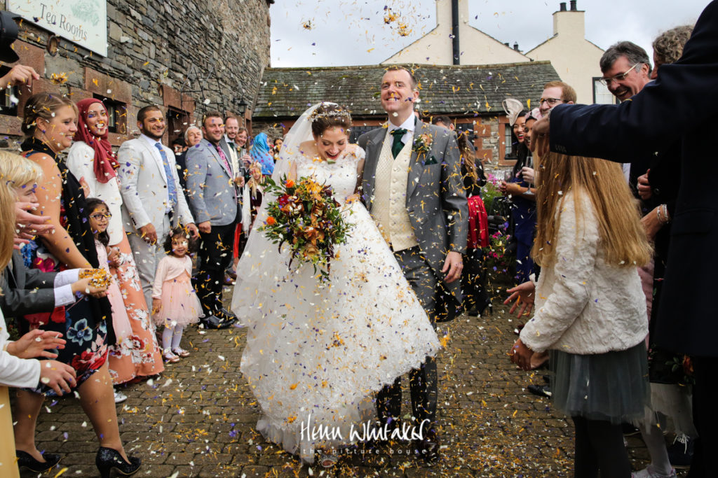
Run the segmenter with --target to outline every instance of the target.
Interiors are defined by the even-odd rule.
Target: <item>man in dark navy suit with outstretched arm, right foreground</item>
[[[620,105],[559,105],[536,123],[538,153],[551,150],[631,162],[681,141],[681,187],[671,229],[656,341],[694,364],[694,423],[699,433],[689,477],[715,477],[718,450],[718,1],[703,11],[679,61]],[[550,135],[548,134],[550,133]],[[547,144],[546,140],[549,140]]]

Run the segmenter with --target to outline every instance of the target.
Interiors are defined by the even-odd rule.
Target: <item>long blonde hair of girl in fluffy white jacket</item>
[[[570,191],[584,193],[595,210],[600,247],[608,264],[633,267],[651,259],[651,245],[640,224],[638,201],[630,193],[618,163],[549,153],[538,159],[536,209],[538,230],[531,254],[537,264],[548,267],[556,260],[556,214]],[[583,201],[574,201],[578,229],[583,220]]]

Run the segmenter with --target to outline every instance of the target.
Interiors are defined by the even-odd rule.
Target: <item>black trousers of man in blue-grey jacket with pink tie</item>
[[[216,315],[222,310],[222,286],[225,269],[232,262],[234,223],[212,226],[209,233],[200,232],[200,263],[195,288],[205,315]]]

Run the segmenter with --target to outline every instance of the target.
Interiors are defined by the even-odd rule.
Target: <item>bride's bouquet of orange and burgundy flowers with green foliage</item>
[[[266,223],[258,230],[274,244],[289,244],[291,259],[309,262],[322,280],[329,278],[330,260],[336,257],[335,246],[347,240],[350,225],[342,218],[340,204],[332,188],[312,178],[298,181],[281,178],[278,185],[271,178],[264,185],[266,193],[276,196],[267,204]]]

